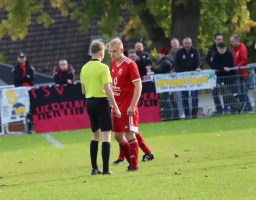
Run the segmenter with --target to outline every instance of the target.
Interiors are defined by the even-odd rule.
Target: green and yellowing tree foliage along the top
[[[99,18],[99,31],[104,38],[116,35],[118,25],[123,21],[122,11],[129,10],[131,20],[123,30],[126,38],[140,37],[152,44],[156,39],[149,33],[152,28],[163,31],[161,37],[172,36],[172,3],[175,6],[186,6],[190,0],[50,0],[51,6],[61,10],[62,16],[71,17],[78,21],[81,30],[87,30],[91,21]],[[36,21],[46,27],[55,22],[54,18],[43,8],[44,0],[0,0],[0,8],[8,13],[7,19],[0,24],[0,37],[11,35],[13,40],[24,39],[28,34],[28,26],[32,22],[32,15]],[[233,33],[241,35],[247,45],[255,41],[256,3],[255,0],[200,0],[200,27],[198,46],[206,52],[213,42],[216,32],[222,32],[225,39]],[[143,13],[150,14],[153,24],[142,20]],[[191,16],[191,20],[194,20]],[[162,39],[162,40],[161,40]],[[159,38],[162,44],[163,38]]]

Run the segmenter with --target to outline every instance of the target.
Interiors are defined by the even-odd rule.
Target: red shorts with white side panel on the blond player
[[[127,115],[127,109],[126,110],[120,110],[121,117],[116,118],[114,116],[114,111],[112,112],[113,117],[113,132],[126,132],[126,131],[138,131],[139,127],[139,112],[138,110],[135,111],[135,114],[133,116]]]

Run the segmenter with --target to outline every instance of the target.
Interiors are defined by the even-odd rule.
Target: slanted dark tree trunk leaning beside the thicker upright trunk
[[[152,46],[156,47],[158,50],[163,46],[170,47],[170,38],[166,37],[163,28],[157,25],[156,19],[154,15],[150,13],[149,9],[145,9],[146,3],[146,0],[133,0],[135,6],[144,8],[138,15],[150,35],[150,39],[153,41]]]

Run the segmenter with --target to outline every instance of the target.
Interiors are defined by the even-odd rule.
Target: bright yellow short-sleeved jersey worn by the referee
[[[103,84],[112,82],[108,66],[98,59],[91,59],[82,67],[80,79],[86,98],[106,97]]]

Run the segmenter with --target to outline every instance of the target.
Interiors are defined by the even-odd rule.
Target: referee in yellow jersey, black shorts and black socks
[[[112,80],[109,68],[107,65],[101,63],[104,58],[105,46],[101,42],[93,42],[90,48],[92,59],[82,67],[80,78],[82,93],[85,94],[87,98],[86,109],[92,129],[92,140],[90,144],[91,174],[115,174],[109,171],[108,168],[111,130],[113,129],[112,105],[115,108],[117,118],[120,118],[121,113],[114,100],[110,86]],[[100,133],[102,133],[101,155],[103,171],[101,171],[97,165]]]

